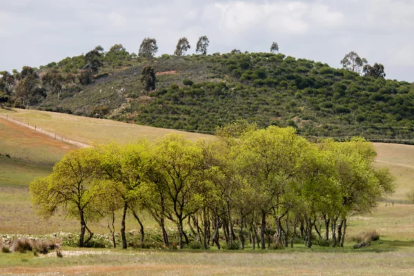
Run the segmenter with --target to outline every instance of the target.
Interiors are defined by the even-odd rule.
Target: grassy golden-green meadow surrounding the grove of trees
[[[76,117],[33,110],[6,111],[1,115],[22,119],[83,143],[117,141],[140,137],[153,141],[175,130],[149,128],[117,121]],[[190,139],[210,137],[186,133]],[[380,242],[354,250],[350,239],[345,248],[312,249],[295,244],[285,250],[119,250],[63,248],[63,259],[55,253],[35,257],[32,253],[0,253],[0,275],[410,275],[414,266],[414,205],[406,204],[406,193],[414,179],[414,146],[375,144],[375,166],[390,168],[397,179],[394,195],[384,199],[373,213],[348,219],[347,236],[377,230]],[[56,215],[43,221],[30,204],[28,184],[48,175],[52,164],[75,146],[56,141],[33,130],[0,119],[0,235],[42,235],[79,231],[75,220]],[[10,155],[11,158],[5,155]],[[394,202],[394,206],[392,206]],[[157,225],[146,214],[146,230]],[[131,216],[127,231],[138,228]],[[94,233],[108,233],[107,222],[91,224]],[[119,231],[119,224],[117,224]]]

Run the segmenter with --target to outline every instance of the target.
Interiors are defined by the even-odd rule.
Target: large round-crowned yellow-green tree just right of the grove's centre
[[[257,208],[262,215],[261,241],[265,249],[266,215],[273,215],[277,239],[282,242],[281,219],[288,214],[286,190],[299,173],[298,161],[308,142],[294,128],[270,126],[266,130],[246,132],[241,137],[240,170],[259,194]]]

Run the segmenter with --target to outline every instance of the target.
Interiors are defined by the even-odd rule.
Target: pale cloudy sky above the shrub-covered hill
[[[386,79],[414,81],[414,0],[0,0],[0,70],[39,67],[121,43],[137,53],[157,39],[170,54],[180,37],[195,52],[269,52],[340,68],[355,51],[382,63]]]

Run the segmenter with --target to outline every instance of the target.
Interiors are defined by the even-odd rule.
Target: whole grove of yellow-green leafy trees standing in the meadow
[[[58,210],[80,222],[79,246],[92,237],[88,225],[126,215],[141,228],[145,211],[157,222],[164,246],[175,225],[179,248],[282,248],[343,246],[347,219],[368,212],[393,193],[393,177],[372,165],[373,144],[355,137],[311,143],[294,128],[239,121],[217,130],[217,139],[193,143],[168,135],[154,144],[97,145],[70,152],[48,177],[32,181],[32,203],[43,217]],[[86,237],[88,233],[88,237]],[[113,239],[114,246],[115,236]]]

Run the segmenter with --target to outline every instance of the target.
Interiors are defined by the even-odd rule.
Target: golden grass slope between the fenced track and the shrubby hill
[[[11,117],[31,126],[37,126],[49,132],[56,132],[68,139],[80,141],[85,144],[92,142],[108,143],[115,141],[126,144],[139,138],[154,141],[168,133],[175,132],[186,135],[188,139],[197,141],[199,139],[210,139],[211,135],[170,130],[166,128],[152,128],[150,126],[139,126],[137,124],[126,124],[119,121],[96,119],[67,115],[57,112],[44,112],[39,110],[3,110],[0,115]]]

